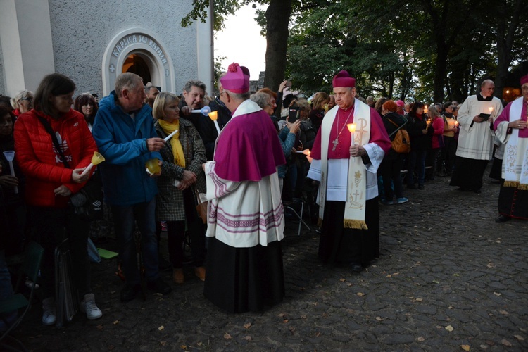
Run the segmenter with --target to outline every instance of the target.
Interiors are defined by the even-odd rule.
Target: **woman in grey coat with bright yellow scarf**
[[[206,279],[206,238],[203,223],[196,213],[194,190],[206,191],[206,179],[201,165],[206,162],[206,148],[194,125],[180,118],[180,108],[175,94],[162,92],[154,101],[153,116],[156,132],[165,138],[175,132],[160,153],[163,157],[161,176],[158,177],[156,196],[156,221],[167,221],[169,259],[172,263],[172,279],[183,284],[183,244],[185,225],[191,237],[194,273],[202,281]]]

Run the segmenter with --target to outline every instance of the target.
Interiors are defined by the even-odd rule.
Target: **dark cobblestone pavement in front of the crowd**
[[[482,194],[436,178],[406,196],[380,204],[381,258],[360,274],[321,265],[318,234],[289,225],[286,297],[263,313],[223,313],[191,268],[178,286],[163,272],[169,296],[121,303],[115,260],[103,260],[92,265],[103,318],[45,327],[35,305],[16,335],[33,351],[528,351],[528,222],[494,222],[488,180]]]

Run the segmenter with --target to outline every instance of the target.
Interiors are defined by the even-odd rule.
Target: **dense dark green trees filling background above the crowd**
[[[330,92],[348,70],[362,96],[463,101],[489,77],[501,96],[511,65],[528,57],[528,0],[217,0],[215,29],[251,3],[269,5],[257,20],[272,89],[291,77],[307,94]],[[194,0],[182,25],[206,6]]]

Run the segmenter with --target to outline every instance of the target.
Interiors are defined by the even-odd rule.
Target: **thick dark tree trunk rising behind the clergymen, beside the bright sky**
[[[288,24],[292,0],[270,0],[266,10],[266,70],[264,87],[273,91],[286,78],[286,50],[288,44]]]

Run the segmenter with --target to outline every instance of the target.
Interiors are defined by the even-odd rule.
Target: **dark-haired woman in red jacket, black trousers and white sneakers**
[[[15,122],[15,158],[26,177],[25,200],[34,239],[44,247],[44,325],[56,322],[54,249],[64,237],[70,243],[73,277],[82,298],[80,308],[88,319],[102,316],[90,288],[89,223],[79,218],[70,204],[70,195],[87,181],[88,176],[81,172],[97,150],[84,116],[71,108],[74,91],[70,78],[47,75],[34,94],[34,108]]]

